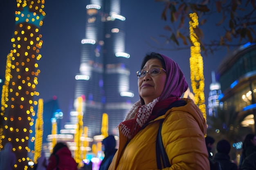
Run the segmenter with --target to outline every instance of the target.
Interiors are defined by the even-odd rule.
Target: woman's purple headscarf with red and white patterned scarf
[[[161,110],[179,100],[188,88],[186,78],[178,64],[165,55],[160,55],[166,65],[166,83],[163,92],[149,104],[145,105],[140,97],[140,100],[132,106],[126,119],[119,124],[121,132],[129,139],[134,137],[144,124],[155,119]]]

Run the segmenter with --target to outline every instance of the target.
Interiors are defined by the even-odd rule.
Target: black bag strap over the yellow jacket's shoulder
[[[171,163],[169,161],[168,155],[166,153],[166,150],[164,148],[164,144],[162,141],[162,135],[161,135],[161,130],[162,130],[162,124],[163,124],[164,119],[160,120],[160,125],[158,128],[157,132],[157,140],[156,140],[156,156],[157,156],[157,169],[161,170],[162,169],[162,162],[163,162],[163,168],[166,167],[171,167]],[[162,162],[161,162],[162,158]]]

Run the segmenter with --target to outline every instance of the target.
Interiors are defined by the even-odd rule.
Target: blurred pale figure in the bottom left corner
[[[0,170],[13,170],[16,163],[16,155],[12,152],[12,144],[6,143],[0,151]]]

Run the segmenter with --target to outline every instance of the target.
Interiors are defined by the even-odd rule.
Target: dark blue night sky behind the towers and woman
[[[85,6],[89,2],[89,0],[45,0],[46,16],[40,29],[40,34],[43,35],[41,38],[43,45],[40,49],[42,58],[38,62],[41,72],[38,76],[36,91],[40,93],[39,98],[45,102],[52,99],[54,95],[57,96],[60,108],[64,113],[64,120],[68,119],[69,106],[73,104],[74,100],[74,77],[76,73],[79,73],[81,40],[85,36]],[[2,77],[5,72],[6,56],[12,49],[10,40],[15,28],[16,0],[5,0],[0,4],[0,76]],[[135,93],[136,100],[139,99],[139,95],[135,73],[139,70],[145,53],[150,51],[162,53],[176,61],[184,72],[187,82],[191,84],[189,49],[159,51],[148,45],[150,43],[157,46],[150,36],[162,40],[159,35],[168,33],[163,29],[168,22],[161,20],[163,9],[163,2],[154,0],[121,0],[121,15],[126,17],[126,52],[131,56],[129,64],[130,90]],[[214,18],[212,20],[214,21]],[[218,32],[223,30],[222,27],[216,27],[215,23],[209,22],[208,25],[201,27],[205,39],[218,37]],[[227,55],[225,48],[222,51],[216,51],[214,55],[204,56],[202,54],[206,104],[208,104],[209,85],[212,80],[211,71],[217,71],[218,65],[225,55]],[[189,87],[191,88],[191,85]]]

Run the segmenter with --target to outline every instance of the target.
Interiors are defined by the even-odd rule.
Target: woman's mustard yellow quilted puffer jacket
[[[191,99],[151,121],[130,142],[119,129],[119,149],[108,170],[157,170],[155,143],[159,119],[164,118],[162,140],[170,168],[164,170],[210,170],[204,134],[207,124]],[[127,144],[128,143],[128,144]]]

